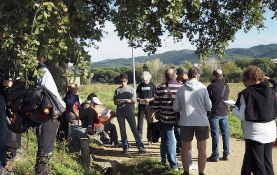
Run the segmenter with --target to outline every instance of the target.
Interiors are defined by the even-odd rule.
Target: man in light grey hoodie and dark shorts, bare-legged
[[[206,86],[198,82],[199,77],[200,70],[197,67],[190,68],[189,81],[178,89],[173,103],[173,110],[181,111],[179,125],[184,175],[189,174],[190,148],[194,132],[197,139],[199,175],[204,174],[206,165],[206,140],[209,138],[207,111],[211,110],[212,104]]]

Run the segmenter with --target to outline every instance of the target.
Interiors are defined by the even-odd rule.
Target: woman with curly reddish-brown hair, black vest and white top
[[[277,81],[265,77],[262,70],[249,66],[243,72],[239,109],[231,106],[234,116],[242,121],[246,152],[254,175],[273,175],[272,147],[276,140]],[[268,80],[274,86],[270,87]],[[245,157],[246,158],[246,157]]]

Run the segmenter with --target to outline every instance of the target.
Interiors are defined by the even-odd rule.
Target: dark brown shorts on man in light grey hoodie
[[[203,141],[208,139],[209,127],[184,127],[180,126],[180,139],[184,142],[190,142],[193,139],[194,132],[197,141]]]

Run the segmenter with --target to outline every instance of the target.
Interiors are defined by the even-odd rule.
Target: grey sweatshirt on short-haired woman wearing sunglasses
[[[126,86],[125,88],[120,86],[115,89],[115,95],[113,96],[114,104],[117,99],[130,99],[136,102],[136,92],[130,86]],[[135,103],[122,102],[117,105],[116,117],[129,117],[133,115],[135,115]]]

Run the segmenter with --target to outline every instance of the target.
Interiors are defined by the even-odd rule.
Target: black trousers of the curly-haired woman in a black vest
[[[251,171],[254,175],[274,175],[272,165],[272,143],[260,143],[246,139]]]

